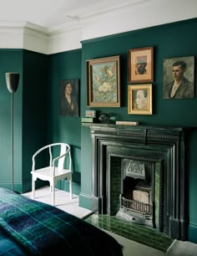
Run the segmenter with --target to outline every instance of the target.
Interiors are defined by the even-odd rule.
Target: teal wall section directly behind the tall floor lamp
[[[11,99],[5,73],[20,74],[18,90],[13,95],[13,172],[14,189],[22,185],[22,108],[23,108],[23,50],[0,49],[0,186],[11,189]]]

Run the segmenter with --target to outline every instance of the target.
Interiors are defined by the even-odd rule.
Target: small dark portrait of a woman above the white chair
[[[60,80],[59,115],[79,116],[79,79]]]

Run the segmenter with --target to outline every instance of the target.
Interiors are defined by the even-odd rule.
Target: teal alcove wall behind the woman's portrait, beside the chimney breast
[[[81,119],[59,115],[59,83],[61,79],[80,79],[81,49],[53,54],[48,57],[48,142],[64,141],[70,144],[73,157],[73,192],[80,192],[81,175]],[[83,98],[79,99],[79,102]],[[80,110],[79,110],[80,114]],[[68,189],[68,182],[61,183]]]

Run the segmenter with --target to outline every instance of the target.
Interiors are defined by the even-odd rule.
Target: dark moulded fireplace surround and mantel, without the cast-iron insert
[[[112,157],[134,157],[161,163],[164,178],[159,231],[186,240],[188,182],[185,174],[183,127],[83,124],[92,136],[92,210],[109,214],[108,187]]]

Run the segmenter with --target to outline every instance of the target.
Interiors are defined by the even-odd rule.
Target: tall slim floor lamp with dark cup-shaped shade
[[[12,157],[12,191],[13,191],[13,94],[18,90],[18,73],[6,73],[6,84],[8,91],[12,94],[11,100],[11,157]]]

